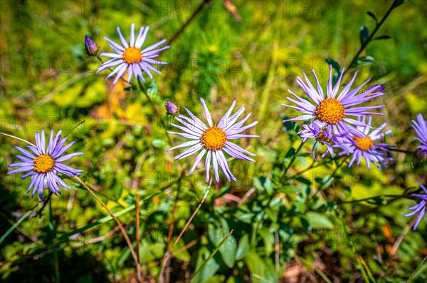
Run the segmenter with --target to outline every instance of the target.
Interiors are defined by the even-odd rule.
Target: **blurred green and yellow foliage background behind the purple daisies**
[[[374,29],[367,11],[382,18],[391,1],[212,1],[162,52],[169,65],[147,82],[155,111],[141,92],[105,81],[108,72],[95,74],[100,62],[86,55],[85,35],[105,52],[111,50],[103,37],[118,42],[116,27],[128,37],[131,23],[150,26],[147,44],[172,38],[201,1],[0,4],[0,131],[30,141],[41,128],[70,132],[72,149],[85,155],[67,165],[84,170],[82,179],[112,211],[125,210],[120,219],[134,240],[135,209],[127,208],[140,194],[139,254],[147,282],[159,278],[169,227],[174,223],[176,238],[206,190],[204,167],[187,174],[194,157],[174,162],[181,151],[166,151],[184,139],[170,135],[169,144],[161,122],[172,118],[163,105],[173,101],[201,115],[200,97],[216,121],[233,100],[245,104],[249,122],[259,121],[251,133],[260,139],[240,145],[257,162],[229,161],[238,182],[221,177],[213,185],[173,250],[180,253],[170,262],[170,282],[189,279],[231,229],[194,282],[402,282],[426,257],[426,221],[411,231],[411,218],[403,217],[413,200],[342,204],[426,184],[425,167],[414,168],[411,156],[394,152],[397,162],[384,172],[363,162],[343,167],[324,184],[337,168],[334,160],[296,175],[313,162],[310,141],[290,170],[295,176],[277,181],[300,144],[297,126],[281,122],[297,115],[280,106],[287,89],[302,94],[295,78],[312,69],[325,85],[327,57],[347,67],[360,47],[360,26]],[[369,44],[362,54],[375,60],[358,67],[355,82],[372,77],[369,85],[384,84],[387,93],[374,104],[385,104],[386,116],[375,121],[393,131],[387,143],[410,151],[418,145],[411,119],[427,116],[426,16],[424,1],[393,11],[377,33],[392,38]],[[16,161],[13,146],[23,144],[0,140],[3,235],[37,199],[26,196],[28,179],[6,175]],[[80,185],[68,184],[71,191],[53,196],[43,216],[23,221],[1,243],[1,281],[136,282],[135,262],[114,221],[102,221],[102,206]],[[320,185],[322,194],[312,194]],[[424,265],[413,282],[426,280]]]

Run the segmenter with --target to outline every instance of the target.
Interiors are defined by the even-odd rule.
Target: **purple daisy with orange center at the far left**
[[[27,172],[21,178],[25,179],[26,177],[31,176],[30,186],[28,187],[27,196],[33,188],[33,193],[31,197],[34,196],[36,191],[38,191],[38,197],[43,199],[43,189],[49,188],[53,194],[60,194],[58,185],[68,189],[68,186],[63,182],[60,177],[58,177],[58,172],[68,175],[68,176],[77,176],[83,173],[82,170],[75,170],[71,167],[63,165],[61,162],[69,160],[71,157],[77,155],[83,155],[83,152],[75,152],[68,155],[63,155],[74,142],[69,143],[64,146],[67,138],[60,138],[61,131],[58,131],[56,135],[51,132],[49,138],[48,147],[46,149],[46,140],[44,129],[41,130],[41,135],[36,133],[36,147],[33,145],[28,145],[27,148],[31,150],[24,150],[15,146],[23,155],[15,155],[16,158],[22,162],[14,163],[9,165],[9,167],[19,167],[18,169],[11,170],[7,174],[14,174],[17,172]],[[28,172],[29,171],[29,172]]]

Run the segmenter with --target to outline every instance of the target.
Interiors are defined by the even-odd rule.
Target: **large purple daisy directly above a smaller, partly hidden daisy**
[[[302,90],[307,94],[307,96],[314,102],[308,101],[307,99],[302,99],[296,94],[294,94],[290,89],[288,89],[289,93],[295,97],[292,99],[287,97],[287,99],[297,106],[289,106],[286,104],[282,104],[286,107],[291,107],[293,109],[297,109],[298,111],[304,113],[302,116],[298,116],[296,118],[291,118],[287,120],[283,120],[283,122],[288,121],[307,121],[312,120],[312,123],[315,123],[318,128],[327,127],[328,133],[332,133],[333,135],[347,135],[348,133],[352,133],[353,135],[357,135],[359,138],[364,138],[365,135],[361,131],[357,129],[356,126],[367,126],[365,123],[361,121],[357,121],[354,118],[349,118],[349,116],[367,116],[371,115],[384,115],[383,113],[375,113],[371,112],[372,109],[379,109],[384,107],[384,105],[379,106],[367,106],[361,107],[357,106],[359,104],[363,104],[371,99],[374,99],[378,96],[384,94],[384,87],[381,85],[376,85],[373,87],[369,87],[369,89],[365,89],[361,94],[358,94],[362,87],[369,82],[370,79],[367,79],[362,85],[350,91],[354,79],[356,79],[357,71],[354,73],[352,80],[347,84],[341,92],[338,92],[342,75],[344,74],[344,68],[341,70],[341,75],[337,83],[332,87],[332,65],[330,66],[330,77],[327,84],[326,96],[323,92],[322,87],[319,84],[319,80],[317,79],[316,73],[312,71],[317,89],[313,87],[310,80],[304,74],[305,82],[302,81],[300,77],[297,77],[297,84],[300,85]],[[357,106],[357,107],[354,107]]]

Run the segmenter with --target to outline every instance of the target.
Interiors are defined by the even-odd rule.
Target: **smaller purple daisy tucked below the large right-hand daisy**
[[[358,121],[365,123],[366,117],[363,117],[362,120],[359,117]],[[352,141],[349,141],[347,138],[341,138],[340,142],[337,143],[339,148],[342,148],[343,151],[339,152],[339,155],[349,154],[349,150],[352,153],[352,159],[349,162],[349,167],[351,167],[355,160],[357,160],[357,165],[360,164],[360,160],[364,157],[364,160],[367,162],[367,167],[371,169],[371,162],[376,165],[378,168],[385,170],[388,166],[388,162],[394,162],[394,159],[389,157],[391,153],[389,148],[392,148],[392,145],[387,145],[386,143],[374,143],[375,140],[383,138],[384,135],[389,135],[391,130],[384,133],[380,133],[387,123],[383,123],[378,128],[371,130],[372,117],[369,116],[368,123],[366,126],[356,126],[357,130],[366,135],[365,138],[360,138],[357,135],[350,133],[348,138],[352,138]]]

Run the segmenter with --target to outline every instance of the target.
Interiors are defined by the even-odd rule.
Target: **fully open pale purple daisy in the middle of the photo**
[[[236,101],[233,101],[233,104],[231,104],[230,109],[228,109],[228,111],[224,114],[223,118],[221,118],[217,126],[212,121],[211,113],[209,113],[205,101],[203,99],[200,99],[200,101],[203,105],[206,120],[208,121],[209,126],[206,126],[205,123],[203,123],[199,118],[194,116],[191,111],[184,107],[184,109],[187,111],[187,113],[189,113],[189,116],[191,118],[180,114],[178,116],[175,116],[174,118],[183,126],[178,126],[174,123],[170,124],[175,128],[179,128],[185,133],[176,133],[172,131],[168,131],[168,133],[172,135],[180,135],[181,137],[189,138],[191,140],[185,143],[181,143],[181,145],[177,145],[176,147],[170,148],[169,150],[174,150],[175,148],[186,148],[191,146],[191,148],[182,152],[180,155],[176,155],[175,160],[180,160],[184,157],[189,157],[190,155],[193,155],[194,153],[199,152],[201,150],[199,152],[199,155],[197,155],[196,161],[194,161],[194,164],[191,167],[189,174],[194,172],[196,166],[206,154],[206,182],[209,182],[209,170],[211,168],[211,163],[214,167],[216,182],[219,182],[218,165],[229,182],[231,181],[231,179],[236,181],[236,177],[231,174],[231,171],[228,168],[226,156],[223,152],[226,152],[228,153],[228,155],[231,155],[232,157],[238,159],[255,162],[255,160],[246,156],[255,156],[252,152],[248,152],[247,150],[244,150],[240,146],[236,145],[235,143],[231,143],[230,140],[237,140],[239,138],[259,138],[259,135],[241,134],[246,129],[255,126],[258,121],[252,122],[248,126],[243,126],[243,124],[248,120],[249,116],[251,116],[251,113],[248,113],[245,118],[236,123],[238,117],[240,117],[243,111],[245,111],[245,106],[241,106],[241,108],[238,109],[236,113],[231,115],[231,111],[233,111],[233,108],[236,105]]]

